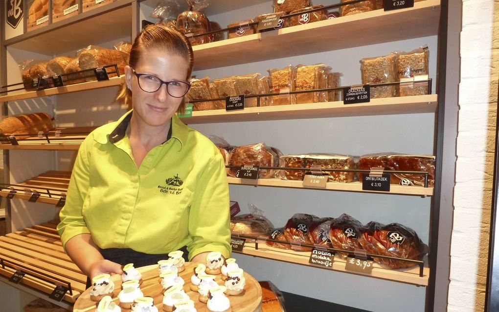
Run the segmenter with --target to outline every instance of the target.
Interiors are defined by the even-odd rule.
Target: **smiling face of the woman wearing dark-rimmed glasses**
[[[163,81],[186,81],[189,64],[187,60],[168,51],[152,49],[142,53],[135,66],[137,73],[147,73]],[[132,90],[132,106],[137,120],[149,126],[163,126],[177,112],[182,98],[168,94],[166,84],[156,92],[146,92],[139,86],[137,76],[130,66],[125,67],[126,83]]]

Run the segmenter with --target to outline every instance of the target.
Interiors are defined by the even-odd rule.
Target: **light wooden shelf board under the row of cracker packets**
[[[419,3],[419,2],[417,2]],[[327,118],[345,116],[373,116],[391,114],[434,113],[437,94],[371,99],[368,103],[343,104],[343,101],[248,107],[244,110],[193,111],[184,117],[187,124],[258,121],[279,119]]]

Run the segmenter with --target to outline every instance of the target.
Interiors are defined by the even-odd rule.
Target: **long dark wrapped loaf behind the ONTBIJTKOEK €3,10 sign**
[[[381,167],[385,170],[397,171],[425,171],[428,172],[428,186],[435,185],[435,156],[433,155],[403,155],[395,153],[381,153],[363,155],[359,159],[359,169],[371,170]],[[362,173],[359,180],[362,181]],[[424,186],[425,176],[421,174],[395,173],[390,175],[391,184]]]

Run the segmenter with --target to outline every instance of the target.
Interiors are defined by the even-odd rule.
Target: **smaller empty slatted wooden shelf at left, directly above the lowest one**
[[[40,194],[37,202],[56,205],[67,192],[70,177],[70,171],[47,171],[19,184],[3,185],[0,196],[7,197],[11,190],[15,190],[13,198],[29,200],[36,191]]]

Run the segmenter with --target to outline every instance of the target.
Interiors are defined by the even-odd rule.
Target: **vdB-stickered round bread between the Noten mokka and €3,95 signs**
[[[331,245],[335,249],[342,249],[354,252],[355,249],[362,249],[359,243],[359,237],[362,232],[362,224],[355,218],[342,214],[331,223],[329,238]],[[348,256],[348,252],[338,253],[343,258]]]

